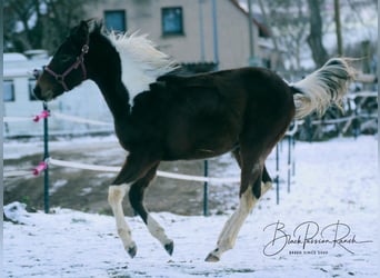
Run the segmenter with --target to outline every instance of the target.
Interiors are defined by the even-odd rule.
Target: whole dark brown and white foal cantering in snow
[[[173,240],[143,203],[160,162],[232,152],[240,166],[239,207],[206,258],[219,261],[233,248],[244,219],[271,187],[264,165],[268,155],[294,118],[314,111],[322,115],[328,107],[339,106],[354,78],[349,61],[332,58],[294,83],[259,67],[184,76],[147,36],[108,32],[98,21],[81,21],[38,73],[33,92],[49,101],[87,79],[99,87],[119,142],[128,151],[109,187],[108,202],[131,258],[137,245],[122,209],[126,193],[171,256]]]

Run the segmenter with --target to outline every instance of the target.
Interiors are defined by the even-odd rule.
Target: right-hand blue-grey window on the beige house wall
[[[183,34],[183,14],[181,7],[162,8],[162,34]]]

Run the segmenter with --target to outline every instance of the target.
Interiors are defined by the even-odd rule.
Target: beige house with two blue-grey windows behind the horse
[[[182,64],[216,60],[219,69],[249,64],[249,16],[238,0],[98,0],[87,7],[86,16],[103,19],[109,30],[149,34]],[[254,19],[252,27],[254,53],[270,67],[273,49],[268,30]]]

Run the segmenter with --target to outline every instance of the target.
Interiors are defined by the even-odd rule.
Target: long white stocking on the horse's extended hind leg
[[[263,196],[270,188],[270,182],[261,183],[261,196]],[[206,258],[207,261],[218,261],[224,251],[233,248],[240,228],[257,201],[258,199],[252,195],[252,188],[249,187],[240,198],[239,208],[224,224],[217,242],[217,248]]]

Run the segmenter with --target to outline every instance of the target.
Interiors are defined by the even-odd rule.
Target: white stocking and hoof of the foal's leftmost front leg
[[[129,185],[110,186],[108,190],[108,202],[112,208],[118,235],[124,246],[124,249],[131,257],[133,257],[136,255],[136,244],[131,238],[131,230],[126,222],[121,205],[128,189]]]

